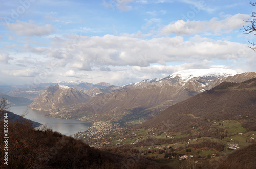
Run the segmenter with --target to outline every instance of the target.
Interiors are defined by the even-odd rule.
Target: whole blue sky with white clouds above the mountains
[[[0,3],[0,85],[125,85],[186,69],[255,72],[250,1]],[[249,41],[249,42],[248,42]]]

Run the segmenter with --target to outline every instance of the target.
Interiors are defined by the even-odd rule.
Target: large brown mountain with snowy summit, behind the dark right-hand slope
[[[127,121],[132,120],[135,112],[135,117],[148,118],[223,81],[241,82],[256,77],[256,73],[250,72],[234,74],[236,71],[222,68],[180,71],[165,78],[131,83],[95,96],[77,105],[77,110],[73,112],[83,111],[89,119],[97,117],[95,120]],[[63,113],[68,111],[69,107],[63,109]]]

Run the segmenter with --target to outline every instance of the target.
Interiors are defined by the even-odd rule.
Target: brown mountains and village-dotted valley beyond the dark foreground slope
[[[122,87],[50,85],[28,107],[91,122],[74,138],[100,151],[170,168],[218,168],[256,145],[256,73],[207,73]]]

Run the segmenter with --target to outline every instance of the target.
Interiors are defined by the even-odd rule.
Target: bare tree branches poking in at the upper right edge
[[[255,3],[252,3],[250,2],[250,5],[252,6],[256,6],[256,2]],[[243,29],[241,29],[245,34],[250,34],[254,31],[256,31],[256,26],[255,26],[255,23],[256,23],[256,12],[251,12],[251,20],[248,19],[246,20],[245,22],[251,22],[251,26],[244,26],[243,25]],[[256,35],[256,34],[254,34]],[[254,42],[249,42],[250,44],[252,44],[253,46],[256,46],[256,44]],[[250,47],[250,46],[249,46]],[[250,47],[253,51],[256,51],[256,47]]]

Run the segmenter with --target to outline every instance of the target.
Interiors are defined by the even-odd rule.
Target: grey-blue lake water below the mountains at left
[[[45,116],[47,111],[39,111],[27,108],[26,106],[13,106],[9,111],[17,115],[22,115],[28,109],[28,115],[25,118],[30,119],[41,124],[47,124],[48,128],[53,131],[58,131],[67,136],[74,136],[78,131],[86,131],[91,126],[90,122],[74,120],[74,119],[56,119]]]

